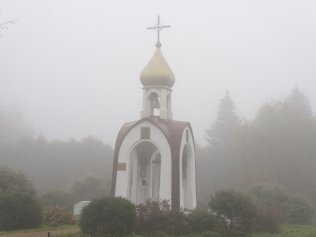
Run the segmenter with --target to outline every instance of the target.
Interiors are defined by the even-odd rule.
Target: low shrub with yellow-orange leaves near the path
[[[44,223],[49,226],[74,225],[76,224],[76,219],[67,207],[50,206],[44,210]]]

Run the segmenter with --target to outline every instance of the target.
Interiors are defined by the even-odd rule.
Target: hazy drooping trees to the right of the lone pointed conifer
[[[316,121],[298,87],[285,99],[266,102],[241,129],[247,131],[240,150],[245,172],[265,173],[293,191],[316,195]]]

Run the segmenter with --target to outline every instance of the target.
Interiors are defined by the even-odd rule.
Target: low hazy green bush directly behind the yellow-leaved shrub
[[[41,196],[43,206],[66,206],[68,210],[74,210],[74,201],[69,192],[63,190],[51,190]]]

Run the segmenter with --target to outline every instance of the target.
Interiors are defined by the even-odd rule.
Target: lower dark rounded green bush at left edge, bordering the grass
[[[0,229],[37,228],[43,222],[43,212],[34,197],[26,193],[0,194]]]

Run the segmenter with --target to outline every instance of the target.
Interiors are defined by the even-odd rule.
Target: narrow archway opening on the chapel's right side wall
[[[193,209],[192,156],[187,144],[182,151],[182,192],[183,209]]]

